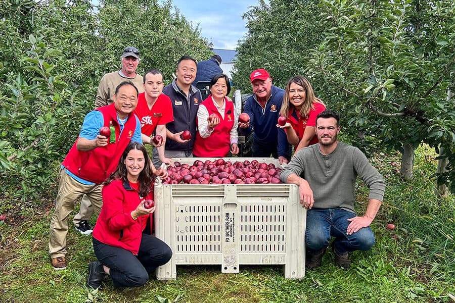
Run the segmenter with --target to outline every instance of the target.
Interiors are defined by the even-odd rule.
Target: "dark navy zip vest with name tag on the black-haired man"
[[[201,104],[202,96],[199,89],[193,85],[190,88],[190,95],[187,95],[181,90],[175,79],[172,83],[163,88],[163,93],[171,99],[172,111],[174,112],[174,121],[166,124],[166,128],[177,133],[183,130],[191,132],[191,140],[188,143],[178,143],[174,140],[166,140],[164,149],[166,150],[193,150],[194,139],[196,138],[196,116],[198,115],[199,104]]]

